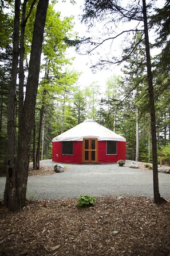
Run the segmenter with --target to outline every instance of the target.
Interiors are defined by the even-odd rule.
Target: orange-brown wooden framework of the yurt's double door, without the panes
[[[85,148],[85,140],[89,141],[88,149]],[[91,143],[92,140],[95,140],[95,146],[96,146],[95,149],[92,149],[92,143]],[[94,151],[95,152],[95,161],[92,160],[91,154],[89,154],[89,160],[85,160],[85,151],[89,151],[89,152]],[[98,140],[97,140],[97,138],[86,137],[83,139],[83,141],[82,141],[82,163],[98,163]]]

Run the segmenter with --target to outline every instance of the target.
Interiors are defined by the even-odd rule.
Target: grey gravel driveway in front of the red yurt
[[[153,196],[152,170],[129,168],[116,163],[108,165],[64,164],[64,173],[45,176],[30,176],[27,183],[27,198],[55,199],[91,196]],[[132,161],[131,161],[132,162]],[[41,161],[42,165],[54,165],[52,161]],[[3,198],[5,177],[0,178],[0,198]],[[170,197],[170,175],[159,173],[161,196]]]

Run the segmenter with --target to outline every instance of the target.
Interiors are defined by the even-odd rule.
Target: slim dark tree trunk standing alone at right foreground
[[[160,193],[159,193],[159,179],[158,179],[158,170],[157,170],[157,140],[156,140],[155,102],[154,102],[151,56],[150,56],[149,36],[148,36],[147,7],[146,7],[145,0],[143,0],[143,17],[144,17],[144,33],[145,33],[145,50],[146,50],[146,55],[147,55],[149,108],[150,108],[150,115],[151,115],[153,194],[154,194],[154,201],[156,202],[156,204],[160,204],[161,197],[160,197]]]

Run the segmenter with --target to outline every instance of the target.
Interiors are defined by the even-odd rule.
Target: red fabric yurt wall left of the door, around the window
[[[82,163],[82,142],[73,143],[73,155],[62,155],[62,142],[53,142],[52,161],[58,163]]]

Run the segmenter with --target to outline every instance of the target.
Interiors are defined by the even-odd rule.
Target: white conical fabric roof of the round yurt
[[[84,138],[97,138],[98,140],[116,140],[125,142],[126,139],[108,128],[96,123],[92,119],[86,119],[81,124],[61,133],[53,138],[53,142],[82,141]]]

